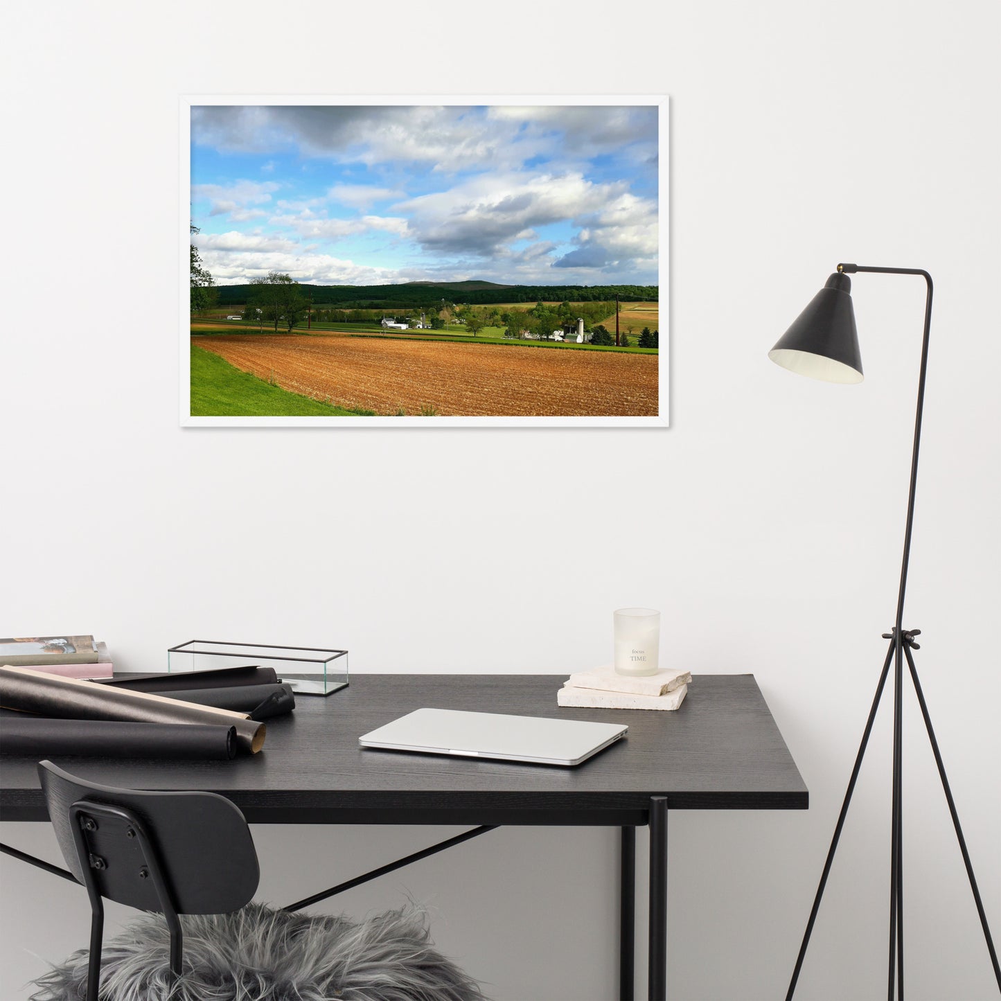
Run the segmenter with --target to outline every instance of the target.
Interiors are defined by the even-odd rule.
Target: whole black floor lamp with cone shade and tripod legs
[[[890,649],[887,651],[886,660],[883,662],[883,671],[879,677],[879,684],[876,686],[876,698],[873,700],[872,709],[869,711],[866,729],[862,733],[862,744],[855,759],[855,768],[852,769],[852,777],[848,781],[848,791],[845,793],[845,801],[841,805],[838,823],[834,828],[831,848],[827,853],[827,861],[824,863],[824,871],[820,877],[820,885],[817,887],[817,896],[814,898],[813,909],[810,912],[810,919],[807,922],[807,929],[803,936],[803,944],[800,946],[799,956],[796,958],[796,968],[793,970],[793,977],[789,983],[789,992],[786,995],[786,999],[787,1001],[792,1001],[793,993],[796,990],[796,982],[799,979],[800,969],[803,966],[803,958],[806,956],[807,946],[810,943],[810,934],[817,919],[817,911],[820,908],[820,901],[824,895],[824,887],[827,884],[827,877],[831,871],[831,863],[834,861],[834,853],[838,848],[838,839],[841,837],[841,829],[848,814],[848,805],[852,800],[855,782],[859,777],[862,758],[866,752],[869,734],[872,731],[873,721],[876,719],[876,711],[883,696],[891,664],[894,665],[893,807],[890,836],[890,962],[887,997],[889,1001],[894,1001],[895,987],[897,997],[901,1001],[904,997],[904,874],[903,853],[901,851],[903,844],[903,813],[901,810],[903,713],[901,696],[903,694],[905,660],[910,671],[911,681],[914,683],[918,705],[921,707],[921,715],[924,717],[928,739],[931,741],[932,751],[935,755],[935,764],[938,766],[939,777],[942,780],[942,788],[945,790],[946,803],[949,805],[949,813],[952,815],[952,823],[956,829],[959,850],[962,852],[963,863],[966,865],[966,874],[970,878],[970,889],[973,890],[973,899],[977,905],[977,913],[980,915],[980,924],[984,930],[987,950],[990,953],[991,963],[994,965],[994,976],[997,978],[998,990],[1001,991],[1001,968],[998,967],[998,957],[994,950],[994,942],[991,939],[991,930],[987,925],[987,916],[984,914],[984,905],[980,900],[980,891],[977,889],[977,881],[973,876],[973,866],[970,864],[970,855],[966,850],[963,829],[959,826],[959,816],[956,813],[956,805],[952,799],[952,791],[949,789],[949,780],[946,778],[945,766],[942,764],[942,756],[939,754],[938,741],[935,740],[935,731],[932,729],[931,717],[928,715],[928,707],[925,704],[925,697],[921,691],[921,683],[918,681],[918,672],[914,666],[912,651],[920,649],[918,644],[914,642],[914,638],[921,633],[921,630],[905,630],[903,628],[904,592],[907,588],[907,564],[911,553],[911,528],[914,523],[914,489],[918,479],[918,446],[921,442],[921,414],[924,408],[925,373],[928,367],[928,335],[931,331],[931,275],[920,268],[863,267],[861,264],[839,264],[837,272],[827,279],[824,287],[814,296],[806,309],[800,313],[796,321],[786,331],[775,347],[769,351],[768,356],[777,364],[790,369],[790,371],[798,372],[801,375],[809,375],[812,378],[819,378],[828,382],[861,382],[862,359],[859,354],[859,338],[855,330],[855,311],[852,307],[852,279],[848,277],[849,274],[854,274],[856,271],[872,271],[880,274],[920,274],[928,286],[928,296],[925,302],[925,330],[921,345],[921,374],[918,377],[918,409],[914,420],[914,449],[911,454],[911,485],[907,498],[907,527],[904,530],[904,560],[900,571],[900,590],[897,595],[897,618],[894,621],[893,629],[889,633],[883,634],[883,639],[890,641]]]

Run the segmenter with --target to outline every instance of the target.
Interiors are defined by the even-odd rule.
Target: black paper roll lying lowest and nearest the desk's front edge
[[[225,761],[235,754],[236,730],[233,727],[49,720],[23,713],[4,713],[0,721],[0,755],[21,755],[36,760],[74,755]]]

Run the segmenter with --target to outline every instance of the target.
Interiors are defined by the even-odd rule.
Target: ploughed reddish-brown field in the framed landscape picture
[[[196,337],[231,365],[340,406],[442,416],[656,416],[657,355],[378,337]]]

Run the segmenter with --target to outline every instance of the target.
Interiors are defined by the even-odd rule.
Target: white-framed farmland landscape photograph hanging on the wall
[[[667,423],[666,103],[224,100],[182,107],[183,423]]]

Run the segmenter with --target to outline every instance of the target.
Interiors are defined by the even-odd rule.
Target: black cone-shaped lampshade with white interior
[[[861,382],[851,291],[847,274],[832,274],[768,356],[783,368],[825,382]]]

